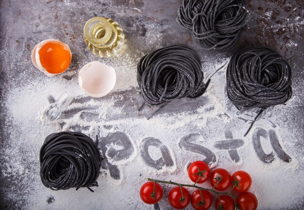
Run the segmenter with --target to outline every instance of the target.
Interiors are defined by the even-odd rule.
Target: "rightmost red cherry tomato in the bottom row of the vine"
[[[253,193],[245,192],[238,194],[236,203],[240,210],[256,210],[257,199]]]

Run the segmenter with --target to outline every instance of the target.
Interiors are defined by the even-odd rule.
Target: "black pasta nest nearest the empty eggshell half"
[[[185,96],[196,98],[205,90],[201,60],[186,45],[164,47],[142,57],[137,82],[150,105],[165,105]]]

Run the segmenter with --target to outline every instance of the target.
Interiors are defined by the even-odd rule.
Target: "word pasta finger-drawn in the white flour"
[[[270,144],[274,152],[266,154],[261,146],[260,138],[264,137],[270,141]],[[188,152],[194,152],[203,156],[203,161],[212,165],[216,163],[217,156],[216,153],[212,150],[203,146],[202,143],[197,141],[198,138],[202,138],[200,134],[190,134],[184,136],[179,144],[179,147],[182,150]],[[233,138],[231,132],[225,132],[226,140],[215,141],[214,147],[218,150],[227,150],[227,155],[234,162],[240,161],[240,156],[238,150],[242,149],[244,145],[244,140],[239,138]],[[275,159],[276,156],[289,163],[291,158],[281,147],[276,132],[274,130],[269,130],[268,132],[265,129],[257,128],[253,132],[253,148],[258,156],[258,158],[265,164],[270,164]],[[108,169],[111,177],[113,179],[119,180],[121,178],[119,167],[119,161],[129,159],[134,155],[135,147],[133,141],[124,133],[117,132],[107,135],[105,138],[101,138],[99,147],[101,148],[103,156],[107,158],[103,160],[102,168]],[[153,148],[151,150],[151,148]],[[172,152],[170,152],[168,146],[166,146],[161,140],[153,137],[147,137],[143,139],[139,147],[140,156],[143,162],[156,169],[161,170],[165,166],[170,168],[174,166],[174,161]],[[158,157],[155,157],[155,153],[158,154]]]

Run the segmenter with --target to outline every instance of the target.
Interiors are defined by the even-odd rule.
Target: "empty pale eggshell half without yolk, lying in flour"
[[[92,61],[80,69],[78,82],[85,94],[99,98],[114,88],[116,73],[114,68],[99,61]]]

